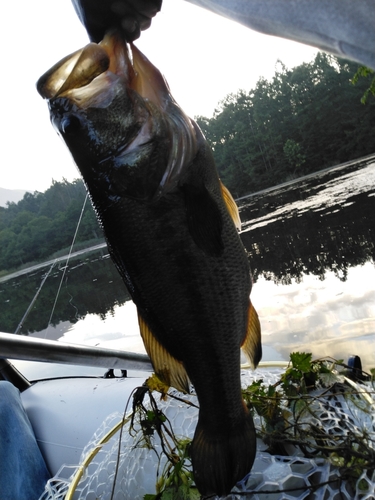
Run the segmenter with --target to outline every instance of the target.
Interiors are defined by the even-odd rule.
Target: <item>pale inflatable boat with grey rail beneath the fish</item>
[[[163,499],[160,478],[166,460],[162,457],[162,443],[156,436],[151,448],[140,445],[132,420],[134,391],[144,387],[152,372],[146,355],[0,334],[0,356],[1,378],[21,390],[53,476],[41,500]],[[336,435],[356,435],[373,456],[373,387],[359,380],[361,371],[355,363],[358,360],[353,358],[349,365],[357,371],[357,381],[340,375],[340,390],[333,394],[325,389],[319,395],[313,394],[315,406],[309,407],[310,422],[305,425],[318,417],[327,436],[336,439]],[[243,366],[243,385],[262,382],[277,386],[286,368],[284,362],[263,363],[255,372]],[[180,440],[189,439],[198,415],[196,397],[194,393],[186,396],[174,390],[168,394],[155,401],[175,435]],[[149,408],[149,402],[144,404]],[[374,468],[363,467],[355,480],[346,476],[343,479],[339,445],[337,453],[328,458],[319,453],[314,456],[314,452],[308,453],[306,447],[297,444],[284,447],[284,454],[278,454],[261,439],[262,419],[258,415],[254,420],[260,436],[254,466],[226,498],[375,498]],[[158,491],[159,496],[154,496]],[[187,495],[185,498],[200,498],[194,488]],[[165,494],[164,498],[175,497]]]

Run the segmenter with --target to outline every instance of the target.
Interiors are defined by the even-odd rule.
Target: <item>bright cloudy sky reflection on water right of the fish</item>
[[[254,305],[262,322],[264,345],[288,359],[294,351],[336,359],[357,354],[367,369],[375,367],[375,291],[372,263],[351,268],[345,282],[328,272],[323,281],[306,276],[302,283],[275,286],[260,277]]]

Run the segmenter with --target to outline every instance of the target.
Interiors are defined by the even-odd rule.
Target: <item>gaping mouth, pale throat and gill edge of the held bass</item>
[[[99,44],[89,43],[63,58],[39,78],[36,86],[48,101],[66,98],[85,110],[108,106],[116,92],[114,83],[118,82],[128,91],[136,92],[150,114],[129,146],[131,149],[152,140],[152,123],[167,124],[165,135],[170,152],[155,193],[155,198],[160,198],[176,187],[204,138],[196,123],[174,100],[163,75],[134,44],[128,45],[119,33],[109,32]]]

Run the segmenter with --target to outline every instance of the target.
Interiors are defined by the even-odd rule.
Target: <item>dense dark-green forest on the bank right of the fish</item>
[[[271,81],[196,118],[235,197],[375,151],[375,99],[361,102],[373,74],[362,71],[353,85],[359,68],[325,53],[293,69],[279,61]]]

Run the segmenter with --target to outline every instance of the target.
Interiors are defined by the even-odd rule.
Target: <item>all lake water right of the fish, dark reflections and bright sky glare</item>
[[[268,359],[299,350],[375,366],[374,196],[372,158],[243,200]]]

